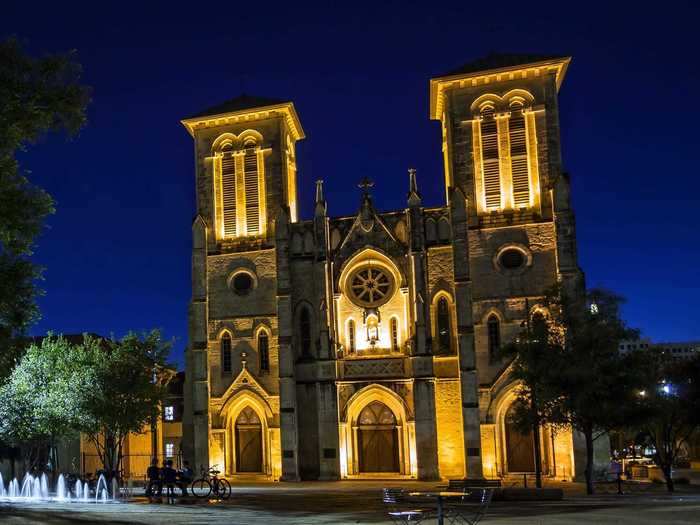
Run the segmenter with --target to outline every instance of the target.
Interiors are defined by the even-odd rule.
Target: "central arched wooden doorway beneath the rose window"
[[[359,467],[361,473],[399,472],[396,417],[380,401],[368,404],[358,418]]]

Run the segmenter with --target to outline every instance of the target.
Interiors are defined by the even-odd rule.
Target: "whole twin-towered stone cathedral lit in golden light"
[[[444,204],[408,170],[404,209],[360,184],[350,217],[316,183],[300,217],[291,102],[241,96],[182,121],[197,215],[186,459],[236,480],[504,478],[535,470],[498,357],[555,283],[580,290],[558,90],[569,57],[491,55],[430,80]],[[439,154],[439,152],[435,152]],[[546,476],[583,474],[543,427]]]

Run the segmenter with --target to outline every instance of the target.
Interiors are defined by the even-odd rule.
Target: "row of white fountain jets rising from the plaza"
[[[119,493],[119,485],[116,479],[111,483],[112,491],[116,495]],[[46,474],[33,476],[29,473],[24,475],[22,482],[17,478],[12,479],[7,488],[5,481],[0,474],[0,501],[3,502],[34,502],[52,501],[60,503],[83,502],[83,503],[112,503],[115,497],[110,497],[107,479],[103,474],[97,480],[95,486],[95,497],[90,497],[90,486],[87,481],[76,480],[73,486],[75,497],[71,497],[71,491],[63,474],[58,476],[56,490],[49,491],[49,479]]]

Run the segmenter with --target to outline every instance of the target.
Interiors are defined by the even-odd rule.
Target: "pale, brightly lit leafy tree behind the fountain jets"
[[[86,371],[76,357],[62,337],[45,337],[29,346],[0,387],[0,437],[23,449],[27,470],[47,460],[56,472],[57,442],[80,424]]]

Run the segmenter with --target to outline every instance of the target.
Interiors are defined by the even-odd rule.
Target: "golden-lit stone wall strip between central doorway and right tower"
[[[435,382],[438,467],[442,479],[464,477],[462,396],[458,380]]]

